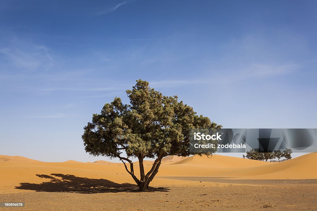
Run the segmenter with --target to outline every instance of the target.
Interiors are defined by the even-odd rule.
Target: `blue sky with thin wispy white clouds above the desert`
[[[94,161],[136,79],[224,128],[317,128],[316,1],[0,1],[0,154]]]

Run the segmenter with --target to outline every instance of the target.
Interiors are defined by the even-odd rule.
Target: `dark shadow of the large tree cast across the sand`
[[[36,183],[20,183],[16,189],[35,190],[38,192],[67,192],[67,193],[118,193],[118,192],[141,192],[136,184],[130,183],[114,183],[107,179],[90,179],[87,177],[76,177],[74,175],[65,174],[36,174],[37,177],[50,179],[49,182]],[[148,191],[167,192],[167,188],[152,188]]]

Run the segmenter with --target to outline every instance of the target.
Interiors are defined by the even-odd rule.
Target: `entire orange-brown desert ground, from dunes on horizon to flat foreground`
[[[316,210],[316,182],[317,153],[281,163],[167,157],[148,192],[120,163],[0,155],[0,202],[25,202],[1,210]]]

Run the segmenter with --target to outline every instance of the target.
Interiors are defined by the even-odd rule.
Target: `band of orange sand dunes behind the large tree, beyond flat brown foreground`
[[[134,184],[122,163],[96,161],[81,163],[69,160],[62,163],[46,163],[19,156],[0,156],[0,189],[2,192],[27,191],[19,189],[21,183],[43,183],[52,178],[56,181],[76,178],[96,179],[102,183]],[[172,162],[175,161],[175,162]],[[149,170],[153,161],[145,161]],[[213,155],[212,158],[192,156],[188,158],[167,157],[163,160],[152,185],[188,185],[189,181],[171,180],[163,177],[231,177],[237,179],[317,179],[317,153],[310,153],[282,163]],[[138,175],[138,162],[135,162]],[[93,180],[95,181],[95,180]],[[176,182],[175,182],[176,181]]]

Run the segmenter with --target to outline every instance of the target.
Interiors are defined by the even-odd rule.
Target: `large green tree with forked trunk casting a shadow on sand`
[[[119,158],[140,190],[148,189],[162,158],[191,154],[189,129],[222,127],[208,117],[196,115],[193,108],[178,102],[177,96],[163,96],[141,79],[126,93],[130,104],[123,104],[119,97],[106,103],[101,113],[94,114],[84,127],[82,139],[86,152],[91,155]],[[139,160],[140,178],[134,174],[131,158]],[[147,173],[144,158],[155,158]]]

